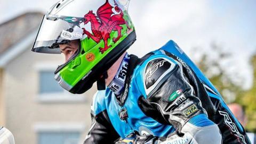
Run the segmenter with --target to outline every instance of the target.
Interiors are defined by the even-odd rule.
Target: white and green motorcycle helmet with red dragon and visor
[[[77,94],[96,81],[102,85],[103,74],[136,39],[128,5],[129,0],[61,0],[44,15],[32,51],[60,54],[59,44],[78,39],[78,50],[55,70],[55,79]]]

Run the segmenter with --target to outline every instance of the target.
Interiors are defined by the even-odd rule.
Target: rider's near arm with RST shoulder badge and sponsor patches
[[[149,116],[148,106],[154,107],[162,117],[151,117],[175,127],[178,135],[169,135],[165,141],[192,138],[197,143],[221,143],[219,128],[207,117],[201,101],[196,97],[196,85],[189,81],[186,67],[163,55],[146,63],[143,72],[145,91],[142,92],[146,97],[141,99],[139,105]]]

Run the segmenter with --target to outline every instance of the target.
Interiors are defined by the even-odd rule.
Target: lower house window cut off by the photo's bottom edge
[[[38,144],[78,144],[79,132],[39,132]]]

